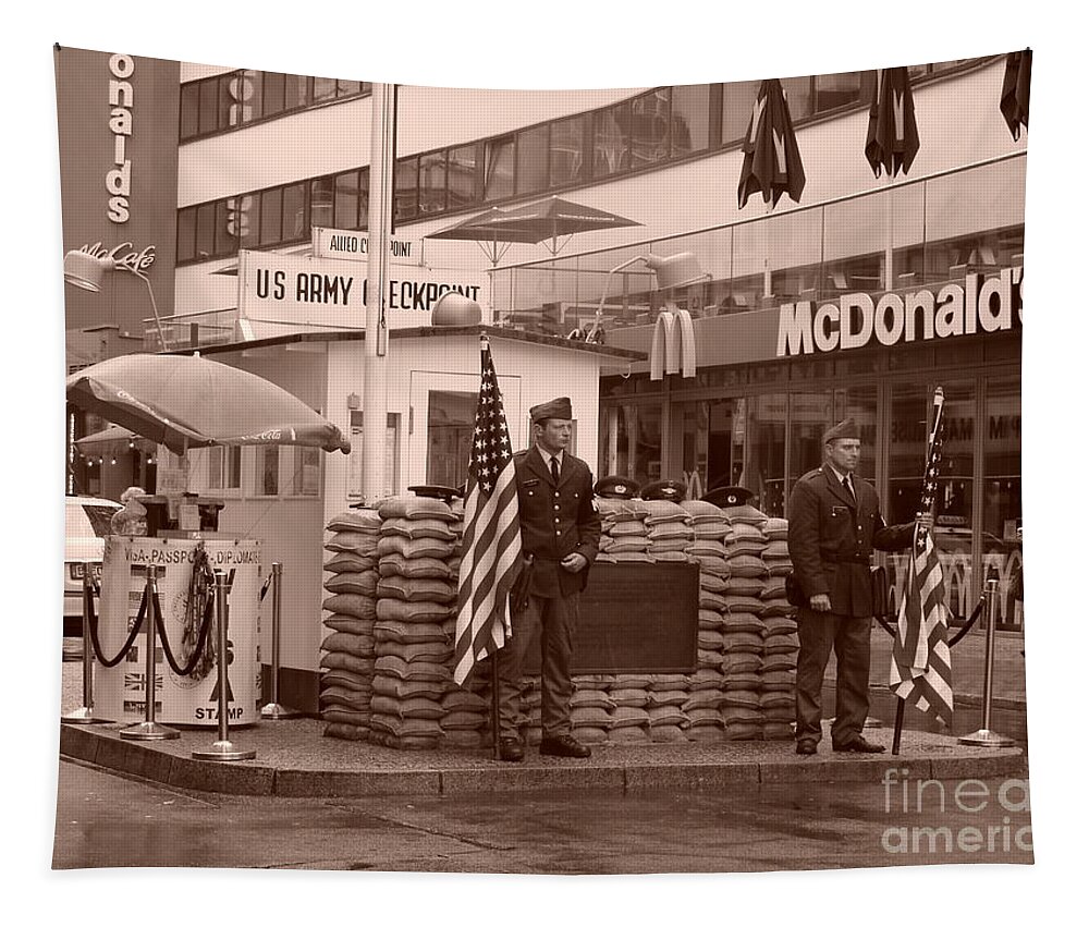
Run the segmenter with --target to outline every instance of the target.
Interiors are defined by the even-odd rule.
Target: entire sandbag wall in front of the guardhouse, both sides
[[[750,505],[598,499],[600,563],[700,568],[698,666],[686,674],[576,675],[589,745],[792,736],[798,649],[786,601],[786,522]],[[333,519],[326,542],[320,688],[326,734],[397,748],[490,743],[488,672],[452,680],[461,507],[399,496]],[[486,669],[486,668],[485,668]],[[523,681],[527,742],[540,682]]]

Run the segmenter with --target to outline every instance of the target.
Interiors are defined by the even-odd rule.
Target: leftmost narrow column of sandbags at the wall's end
[[[319,687],[328,736],[367,740],[370,735],[375,674],[375,619],[378,541],[381,520],[374,511],[348,511],[327,526],[325,548],[331,595],[322,602],[330,632],[321,643]]]

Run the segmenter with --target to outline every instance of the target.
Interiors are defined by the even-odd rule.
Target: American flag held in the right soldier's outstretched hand
[[[933,425],[922,485],[922,510],[933,508],[942,460],[945,402],[934,390]],[[953,723],[953,668],[949,647],[949,609],[945,580],[932,532],[915,526],[907,566],[907,587],[900,603],[900,622],[892,647],[889,686],[900,698],[934,720]]]

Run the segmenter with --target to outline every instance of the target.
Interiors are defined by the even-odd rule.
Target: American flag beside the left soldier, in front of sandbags
[[[457,587],[454,682],[506,643],[510,591],[522,562],[518,484],[488,339],[480,338],[480,398],[465,493],[465,532]]]

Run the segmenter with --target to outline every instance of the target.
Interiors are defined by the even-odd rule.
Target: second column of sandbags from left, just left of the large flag
[[[458,515],[441,499],[395,496],[378,509],[372,740],[431,748],[453,690]],[[458,739],[458,737],[455,737]]]

